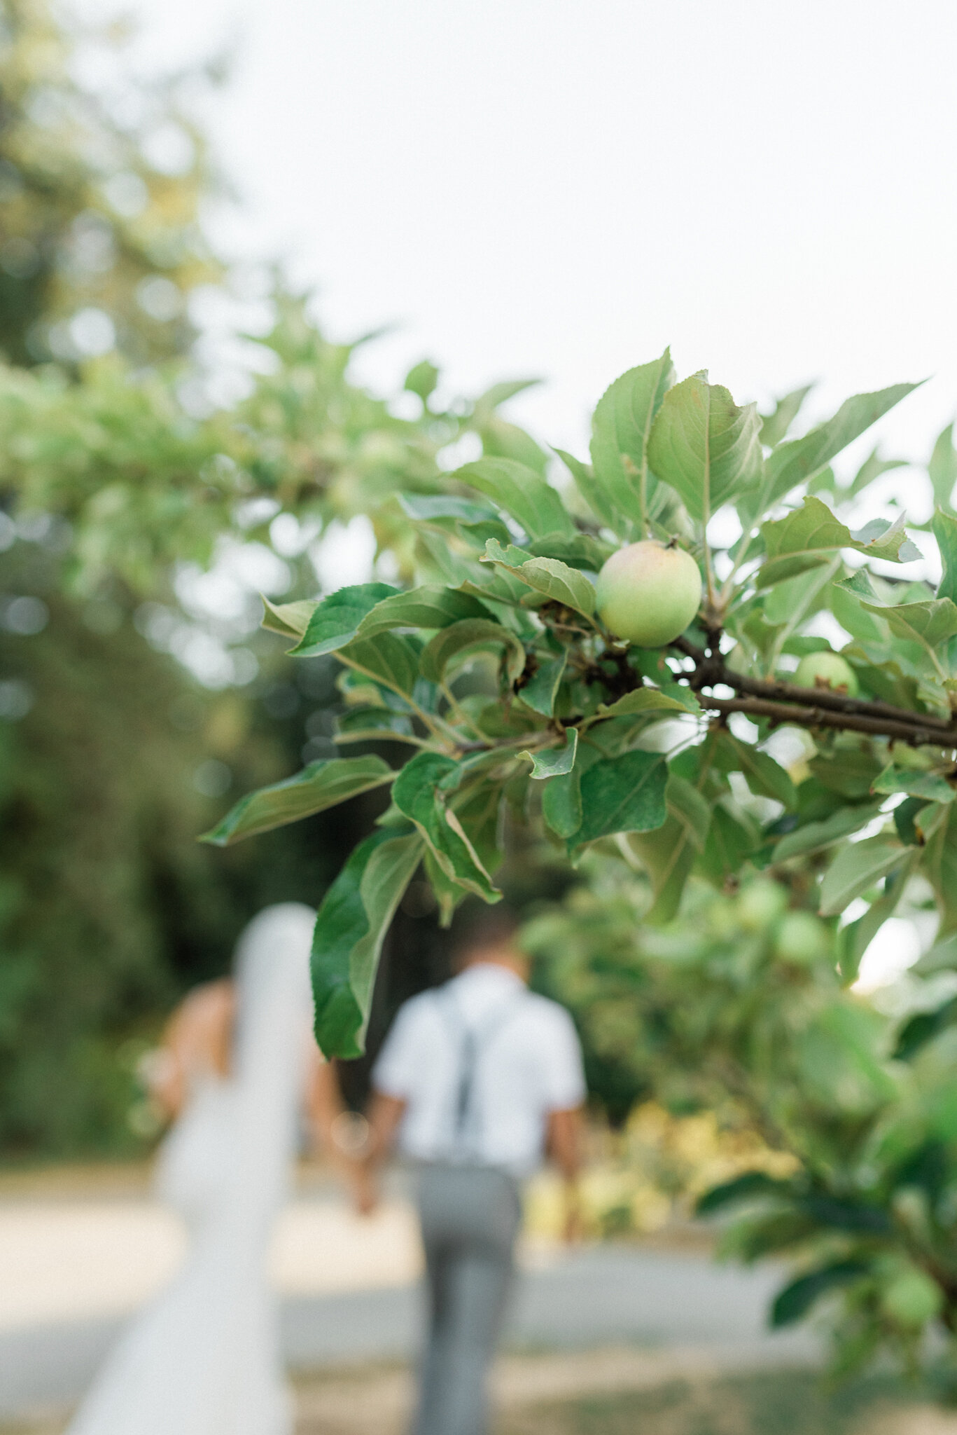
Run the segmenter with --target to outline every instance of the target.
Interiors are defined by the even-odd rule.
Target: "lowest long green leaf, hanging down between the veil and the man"
[[[316,1040],[326,1056],[362,1056],[383,937],[423,842],[380,828],[352,852],[319,908],[313,936]]]

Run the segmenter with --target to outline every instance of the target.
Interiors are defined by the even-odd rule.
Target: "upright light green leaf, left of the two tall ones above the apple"
[[[660,359],[616,379],[595,408],[591,420],[593,491],[600,494],[595,514],[621,538],[633,532],[644,537],[647,512],[641,494],[644,491],[647,498],[656,486],[649,474],[649,438],[673,383],[674,364],[666,349]]]

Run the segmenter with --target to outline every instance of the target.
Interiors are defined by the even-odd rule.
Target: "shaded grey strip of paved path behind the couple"
[[[587,1349],[611,1343],[694,1346],[727,1358],[814,1360],[805,1332],[769,1335],[778,1283],[766,1269],[712,1264],[699,1253],[593,1247],[522,1276],[508,1345]],[[415,1286],[287,1294],[283,1339],[300,1369],[407,1356],[420,1320]],[[36,1323],[0,1330],[0,1416],[70,1402],[83,1391],[122,1319]]]

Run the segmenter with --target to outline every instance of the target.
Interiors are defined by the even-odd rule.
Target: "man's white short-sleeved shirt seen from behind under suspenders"
[[[459,1119],[473,1039],[468,1129]],[[528,1175],[542,1159],[552,1111],[581,1105],[585,1082],[571,1017],[525,990],[514,971],[476,963],[399,1010],[372,1082],[405,1101],[402,1152],[416,1161],[475,1161]]]

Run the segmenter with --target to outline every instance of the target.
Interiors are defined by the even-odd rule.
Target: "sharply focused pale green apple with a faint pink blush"
[[[638,647],[673,643],[702,603],[702,575],[692,555],[651,538],[613,552],[595,588],[601,621]]]

